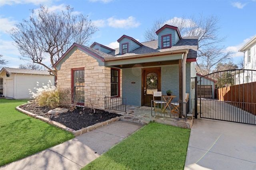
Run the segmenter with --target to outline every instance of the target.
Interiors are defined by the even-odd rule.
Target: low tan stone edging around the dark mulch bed
[[[22,105],[20,105],[20,106],[23,106],[23,105],[26,105],[26,104],[22,104]],[[92,131],[92,130],[98,128],[98,127],[102,127],[102,126],[104,126],[104,125],[108,125],[108,124],[110,124],[110,123],[112,123],[112,122],[114,122],[114,121],[118,121],[118,120],[120,119],[119,117],[114,117],[114,118],[112,118],[112,119],[108,119],[108,120],[106,120],[106,121],[103,121],[103,122],[100,122],[100,123],[96,123],[96,124],[94,124],[94,125],[91,125],[91,126],[88,126],[88,127],[83,128],[83,129],[79,129],[79,130],[76,130],[76,131],[75,131],[74,129],[71,129],[71,128],[69,128],[69,127],[66,127],[65,125],[62,125],[62,124],[60,124],[60,123],[58,123],[58,122],[56,122],[56,121],[51,121],[51,120],[48,119],[48,118],[45,118],[45,117],[42,117],[42,116],[38,116],[38,115],[36,115],[36,114],[34,114],[34,113],[31,113],[31,112],[29,112],[29,111],[26,111],[26,110],[24,110],[24,109],[21,109],[20,106],[17,106],[17,107],[16,107],[16,110],[18,110],[18,111],[20,111],[20,112],[22,112],[22,113],[24,113],[24,114],[26,114],[26,115],[28,115],[28,116],[30,116],[30,117],[34,117],[34,118],[36,118],[36,119],[40,119],[40,120],[42,120],[42,121],[44,121],[44,122],[46,122],[46,123],[49,123],[50,125],[54,125],[54,126],[56,126],[56,127],[59,127],[60,129],[64,129],[65,131],[69,131],[69,132],[73,133],[74,136],[82,135],[83,133],[90,132],[90,131]]]

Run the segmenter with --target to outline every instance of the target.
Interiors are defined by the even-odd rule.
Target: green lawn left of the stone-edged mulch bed
[[[0,99],[0,166],[74,138],[15,109],[28,100]]]

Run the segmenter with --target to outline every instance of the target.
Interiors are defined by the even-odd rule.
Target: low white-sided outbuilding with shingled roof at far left
[[[1,78],[3,79],[3,96],[13,99],[30,99],[32,94],[28,89],[36,92],[34,88],[42,87],[43,83],[47,85],[49,80],[54,84],[54,76],[50,75],[48,70],[3,67],[0,70]]]

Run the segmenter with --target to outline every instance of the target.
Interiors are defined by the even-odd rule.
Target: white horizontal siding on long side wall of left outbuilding
[[[14,93],[15,99],[30,99],[32,94],[30,94],[28,89],[32,92],[36,92],[34,88],[41,88],[47,85],[49,80],[54,84],[54,76],[50,75],[37,75],[37,74],[16,74],[16,93]],[[37,83],[39,82],[39,83]],[[37,86],[38,84],[38,86]]]

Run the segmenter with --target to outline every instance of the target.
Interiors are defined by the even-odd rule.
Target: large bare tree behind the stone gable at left
[[[74,9],[66,6],[61,13],[50,12],[45,6],[40,6],[36,13],[32,11],[29,20],[18,23],[17,28],[8,33],[15,41],[22,59],[41,64],[57,75],[54,63],[68,50],[72,43],[85,45],[98,29],[88,20],[88,16],[73,15]],[[52,68],[45,64],[50,59]]]

